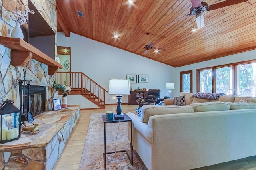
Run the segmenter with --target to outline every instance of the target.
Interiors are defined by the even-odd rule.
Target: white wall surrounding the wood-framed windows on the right
[[[241,61],[248,61],[256,59],[256,50],[247,51],[244,53],[238,53],[234,55],[229,55],[226,57],[221,57],[217,59],[212,59],[209,61],[204,61],[196,64],[190,64],[182,67],[175,68],[175,90],[172,90],[173,96],[180,95],[180,71],[193,70],[193,93],[196,93],[196,69],[212,67],[216,65],[224,65],[229,63],[236,63]],[[178,87],[178,88],[176,88]]]

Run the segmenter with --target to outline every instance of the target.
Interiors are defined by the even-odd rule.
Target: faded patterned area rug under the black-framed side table
[[[103,114],[106,113],[91,114],[79,170],[104,170]],[[118,134],[117,137],[116,134]],[[131,156],[130,141],[128,140],[128,122],[106,123],[106,152],[114,152],[115,150],[127,150]],[[130,164],[125,152],[107,154],[106,169],[147,170],[135,150],[133,151],[133,165]]]

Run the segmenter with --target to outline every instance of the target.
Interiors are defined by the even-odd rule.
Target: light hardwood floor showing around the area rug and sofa
[[[84,149],[90,114],[106,113],[106,111],[113,111],[116,113],[116,106],[117,105],[107,105],[106,109],[80,111],[80,119],[73,129],[70,140],[64,148],[59,160],[56,162],[53,168],[54,170],[78,170]],[[136,113],[135,107],[138,107],[138,105],[130,106],[124,104],[122,105],[122,113]],[[223,164],[208,166],[207,168],[198,168],[198,170],[256,170],[255,167],[256,156],[254,156],[254,158],[235,160]]]

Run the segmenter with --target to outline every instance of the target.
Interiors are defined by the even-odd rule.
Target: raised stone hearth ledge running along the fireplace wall
[[[37,115],[33,123],[39,124],[39,133],[23,132],[18,140],[0,144],[0,169],[52,169],[79,118],[80,105]]]

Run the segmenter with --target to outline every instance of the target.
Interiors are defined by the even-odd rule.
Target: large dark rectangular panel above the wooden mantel
[[[36,47],[50,58],[55,59],[54,31],[30,0],[28,1],[28,8],[34,10],[35,13],[29,13],[28,24],[24,24],[22,27],[24,41]]]

